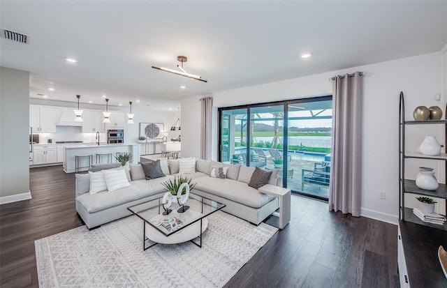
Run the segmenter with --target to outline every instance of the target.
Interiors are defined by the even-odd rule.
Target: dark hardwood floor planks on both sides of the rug
[[[38,287],[34,241],[81,226],[75,176],[33,168],[33,199],[0,206],[0,286]],[[225,287],[399,287],[397,226],[292,197],[291,222]]]

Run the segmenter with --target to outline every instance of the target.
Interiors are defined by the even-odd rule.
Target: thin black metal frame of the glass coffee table
[[[189,227],[190,225],[193,225],[194,223],[198,222],[199,220],[200,220],[200,234],[199,234],[199,236],[196,236],[195,238],[200,238],[200,242],[199,243],[194,242],[193,240],[195,238],[191,239],[190,241],[193,244],[197,245],[199,248],[202,248],[202,234],[204,232],[203,231],[203,219],[205,219],[208,215],[211,215],[212,213],[223,209],[223,207],[225,207],[226,204],[214,201],[212,199],[208,199],[208,198],[200,196],[200,195],[193,194],[192,192],[191,192],[189,197],[190,197],[190,199],[194,199],[196,201],[201,202],[201,211],[200,211],[200,213],[202,214],[202,216],[200,216],[200,218],[197,218],[196,220],[193,220],[193,221],[187,223],[186,225],[184,225],[183,227],[180,227],[179,229],[177,229],[175,231],[171,231],[170,233],[169,232],[166,233],[163,229],[159,228],[159,225],[154,225],[151,222],[151,220],[154,217],[156,217],[156,216],[152,215],[152,217],[150,219],[147,219],[144,215],[142,215],[143,212],[148,211],[150,209],[154,209],[156,206],[158,206],[158,215],[163,213],[164,210],[161,208],[162,207],[161,199],[163,197],[159,197],[158,199],[152,199],[152,200],[149,200],[147,202],[142,202],[140,204],[136,204],[136,205],[133,205],[133,206],[130,206],[130,207],[127,208],[129,211],[131,211],[133,214],[137,215],[140,219],[143,220],[143,250],[147,250],[147,249],[151,248],[152,246],[154,246],[156,244],[159,244],[159,243],[157,243],[155,241],[152,241],[151,239],[149,239],[146,236],[146,223],[149,224],[151,227],[153,227],[157,232],[160,232],[164,236],[169,237],[169,236],[171,236],[171,235],[173,235],[173,234],[175,234],[175,233],[177,233],[179,231],[182,231],[182,229],[185,229],[186,227]],[[198,200],[196,198],[199,198],[200,200]],[[144,204],[149,204],[149,202],[156,202],[156,200],[158,200],[158,202],[159,202],[158,205],[155,204],[154,206],[149,206],[146,209],[137,210],[138,206],[143,206]],[[210,205],[209,203],[214,204],[214,206]],[[203,209],[204,209],[205,205],[213,207],[213,209],[212,209],[212,211],[210,211],[210,213],[205,213],[205,214],[203,213]],[[171,216],[170,215],[166,215],[166,218],[168,218],[168,217],[171,217]],[[147,240],[152,241],[154,243],[152,245],[146,246],[146,241]],[[179,243],[181,243],[181,242],[179,242]]]

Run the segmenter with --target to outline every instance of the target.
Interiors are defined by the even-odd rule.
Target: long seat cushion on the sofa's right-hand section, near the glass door
[[[194,179],[194,181],[196,182],[194,190],[208,192],[256,209],[274,199],[273,196],[261,193],[255,188],[249,187],[247,183],[240,181],[212,177],[200,177]]]

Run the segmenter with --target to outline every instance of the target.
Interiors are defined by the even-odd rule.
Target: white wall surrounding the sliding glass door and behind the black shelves
[[[364,71],[363,78],[363,144],[362,144],[362,215],[387,222],[397,222],[398,215],[398,117],[399,93],[406,99],[406,119],[418,105],[437,105],[445,109],[446,95],[441,101],[441,52],[406,59],[375,63],[318,75],[288,79],[232,91],[214,93],[214,106],[227,107],[247,103],[307,98],[332,94],[330,77]],[[444,79],[445,81],[445,79]],[[200,156],[200,97],[182,100],[182,156]],[[444,110],[445,111],[445,110]],[[214,116],[217,121],[217,116]],[[217,126],[214,125],[214,159],[217,156]],[[426,134],[430,133],[430,134]],[[186,136],[187,135],[187,136]],[[425,135],[437,135],[444,141],[441,128],[416,130],[408,142],[417,146]],[[413,165],[417,167],[418,165]],[[437,165],[437,175],[444,174]],[[416,176],[416,168],[413,171]],[[410,171],[411,172],[411,171]],[[386,199],[379,199],[386,192]]]

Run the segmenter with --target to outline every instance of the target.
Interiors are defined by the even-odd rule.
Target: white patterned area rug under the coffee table
[[[222,287],[278,230],[222,211],[208,220],[202,248],[186,242],[143,251],[142,220],[135,215],[39,239],[39,286]]]

